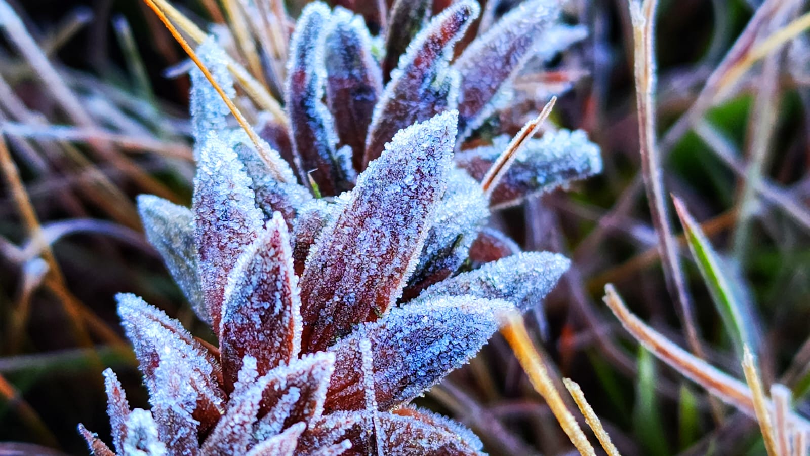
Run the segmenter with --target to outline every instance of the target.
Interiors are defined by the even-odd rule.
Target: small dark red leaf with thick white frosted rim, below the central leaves
[[[279,366],[266,375],[267,387],[262,398],[262,411],[270,411],[292,388],[300,398],[284,421],[284,427],[299,421],[309,423],[323,413],[326,388],[335,369],[335,355],[320,351],[304,355],[291,364]],[[263,381],[263,380],[262,380]]]

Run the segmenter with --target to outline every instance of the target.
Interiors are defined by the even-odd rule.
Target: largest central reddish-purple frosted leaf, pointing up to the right
[[[401,295],[445,191],[455,111],[400,131],[360,174],[301,276],[304,351],[326,348]]]

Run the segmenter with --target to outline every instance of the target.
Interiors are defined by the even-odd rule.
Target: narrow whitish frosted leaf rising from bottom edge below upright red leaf
[[[245,454],[251,444],[252,430],[266,381],[256,381],[256,359],[245,356],[245,367],[228,401],[228,410],[207,437],[200,454]]]

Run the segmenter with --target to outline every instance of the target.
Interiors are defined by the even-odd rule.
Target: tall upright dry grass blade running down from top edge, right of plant
[[[659,250],[663,263],[664,277],[670,295],[678,301],[678,314],[684,325],[689,348],[704,358],[695,323],[692,298],[686,290],[684,273],[680,268],[678,249],[672,237],[672,228],[667,216],[667,202],[663,188],[661,157],[655,144],[655,63],[654,63],[654,14],[656,0],[645,0],[640,4],[630,1],[630,17],[633,19],[633,41],[635,45],[636,102],[638,108],[638,138],[642,156],[642,174],[650,203],[650,215],[658,235]]]

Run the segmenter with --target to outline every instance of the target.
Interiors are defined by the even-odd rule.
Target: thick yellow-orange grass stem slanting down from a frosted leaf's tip
[[[526,326],[523,325],[522,316],[517,312],[507,312],[503,316],[503,320],[505,325],[501,328],[501,334],[503,334],[506,342],[509,342],[509,346],[512,347],[514,355],[529,376],[529,381],[535,387],[535,391],[540,396],[543,396],[546,403],[548,403],[548,407],[552,410],[563,431],[565,431],[565,434],[579,453],[595,456],[594,447],[590,445],[587,437],[585,437],[585,433],[579,427],[577,419],[571,415],[568,407],[565,407],[560,392],[556,390],[551,377],[548,376],[544,360],[540,358],[539,353],[532,345]]]

